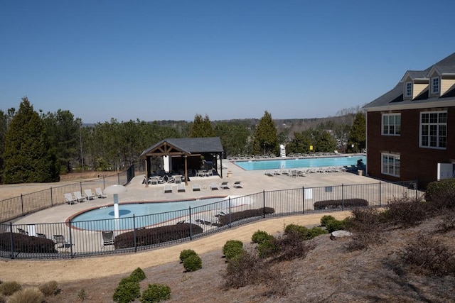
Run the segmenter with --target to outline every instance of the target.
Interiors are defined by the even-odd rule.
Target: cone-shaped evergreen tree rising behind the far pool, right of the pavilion
[[[268,153],[279,153],[277,126],[268,111],[259,120],[255,131],[255,140],[253,141],[253,153],[262,155]]]

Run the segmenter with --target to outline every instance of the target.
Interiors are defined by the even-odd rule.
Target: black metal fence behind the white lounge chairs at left
[[[77,182],[58,187],[50,187],[39,192],[30,194],[21,194],[18,197],[4,199],[0,201],[0,222],[11,221],[27,214],[32,214],[36,211],[48,209],[50,207],[66,204],[65,193],[81,192],[82,195],[85,189],[95,189],[100,187],[105,189],[113,184],[127,184],[134,177],[134,165],[129,167],[124,172],[119,172],[116,175],[109,177],[99,177],[93,180]]]

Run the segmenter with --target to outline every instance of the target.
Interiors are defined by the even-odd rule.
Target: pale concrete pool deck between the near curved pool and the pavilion
[[[276,158],[277,159],[277,158]],[[243,196],[262,191],[279,189],[295,189],[299,187],[324,187],[341,184],[368,184],[378,180],[370,177],[355,175],[351,172],[319,172],[306,177],[291,177],[289,175],[266,175],[270,170],[243,170],[228,160],[223,161],[223,179],[220,176],[191,177],[185,192],[178,192],[177,184],[171,184],[172,192],[164,192],[164,184],[154,184],[146,187],[143,184],[144,175],[137,175],[127,184],[127,192],[119,194],[119,203],[124,202],[168,202],[176,200],[200,199],[207,197]],[[227,167],[227,168],[226,168]],[[228,171],[232,172],[229,174]],[[221,182],[228,182],[228,189],[220,187]],[[234,182],[241,181],[242,188],[234,188]],[[218,184],[220,189],[211,190],[210,183]],[[182,184],[185,184],[184,182]],[[193,192],[193,184],[200,184],[200,191]],[[15,224],[40,224],[65,222],[71,216],[87,209],[99,208],[113,204],[112,195],[105,199],[93,199],[79,204],[64,204],[18,219]]]

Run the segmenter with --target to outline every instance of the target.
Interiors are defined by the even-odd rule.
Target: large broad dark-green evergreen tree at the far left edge
[[[6,132],[4,182],[58,182],[57,160],[50,148],[43,121],[33,111],[27,97],[22,98]]]

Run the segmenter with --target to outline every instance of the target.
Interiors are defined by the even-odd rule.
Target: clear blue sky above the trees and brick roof
[[[0,0],[0,109],[335,116],[455,52],[455,1]]]

